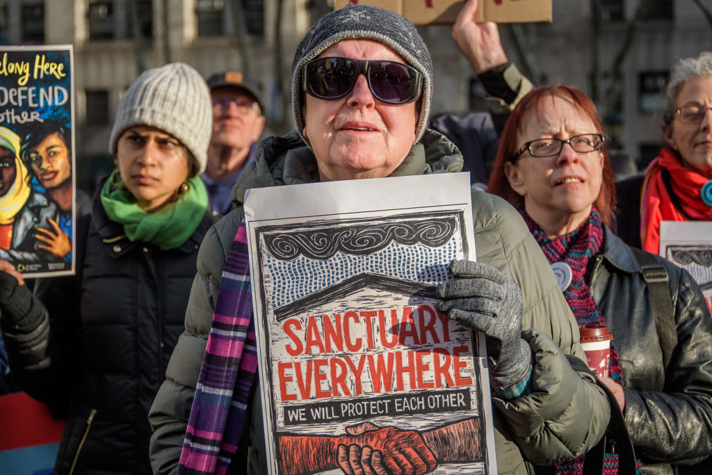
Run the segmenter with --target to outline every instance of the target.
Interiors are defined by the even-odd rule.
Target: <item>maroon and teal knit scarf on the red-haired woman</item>
[[[544,252],[546,259],[550,263],[565,262],[570,266],[572,273],[571,283],[563,293],[576,318],[576,323],[579,325],[595,324],[605,326],[606,320],[601,315],[591,295],[591,289],[587,285],[596,262],[596,256],[601,254],[603,246],[603,225],[601,223],[601,215],[597,209],[591,209],[588,221],[579,229],[556,239],[549,239],[539,225],[523,209],[520,209],[519,212],[524,218],[529,231]],[[620,360],[613,343],[611,343],[611,359],[608,365],[608,372],[612,380],[622,383]],[[584,458],[585,455],[581,455],[565,464],[558,464],[556,466],[557,475],[581,475],[583,473]],[[603,461],[603,474],[616,475],[617,473],[617,454],[606,452]]]

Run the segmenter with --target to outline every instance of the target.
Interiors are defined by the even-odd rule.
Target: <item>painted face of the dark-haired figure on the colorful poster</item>
[[[72,176],[72,162],[64,140],[55,132],[30,150],[32,171],[40,184],[52,189]]]

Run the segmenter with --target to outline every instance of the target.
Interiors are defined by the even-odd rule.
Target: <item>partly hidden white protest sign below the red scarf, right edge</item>
[[[690,273],[712,313],[712,222],[662,221],[660,255]]]

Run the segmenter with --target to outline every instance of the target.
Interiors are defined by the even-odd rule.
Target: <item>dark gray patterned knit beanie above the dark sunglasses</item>
[[[369,39],[379,41],[402,56],[423,75],[422,107],[419,111],[416,142],[425,131],[432,98],[433,64],[427,46],[415,26],[404,17],[377,6],[347,4],[342,9],[322,16],[305,34],[297,46],[292,63],[292,109],[297,132],[304,137],[302,116],[302,70],[326,48],[342,40]]]

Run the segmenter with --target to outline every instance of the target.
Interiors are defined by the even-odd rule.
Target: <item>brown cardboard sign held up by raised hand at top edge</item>
[[[336,0],[334,9],[346,4],[379,6],[395,11],[414,25],[454,24],[465,2],[462,0]],[[551,0],[480,0],[478,23],[531,23],[551,21]]]

